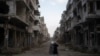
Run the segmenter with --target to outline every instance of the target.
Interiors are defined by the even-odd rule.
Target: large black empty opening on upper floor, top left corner
[[[8,14],[9,6],[4,1],[0,1],[0,13],[1,14]]]

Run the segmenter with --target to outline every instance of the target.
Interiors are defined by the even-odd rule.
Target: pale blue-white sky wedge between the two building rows
[[[56,28],[60,26],[61,14],[66,10],[67,1],[68,0],[39,0],[39,10],[41,16],[44,16],[51,37]]]

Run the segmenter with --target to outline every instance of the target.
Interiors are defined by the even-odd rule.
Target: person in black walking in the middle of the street
[[[51,41],[49,53],[51,56],[58,56],[58,44],[54,41]]]

